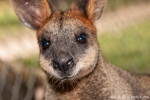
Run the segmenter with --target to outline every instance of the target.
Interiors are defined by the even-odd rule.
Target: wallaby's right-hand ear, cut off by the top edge
[[[102,15],[107,0],[78,0],[71,10],[79,10],[93,22]]]

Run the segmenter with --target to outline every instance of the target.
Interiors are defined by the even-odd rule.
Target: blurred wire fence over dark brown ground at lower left
[[[0,100],[43,100],[45,86],[39,69],[0,62]]]

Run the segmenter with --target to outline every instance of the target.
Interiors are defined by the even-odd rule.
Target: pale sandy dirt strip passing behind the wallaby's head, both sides
[[[147,18],[150,18],[150,5],[138,4],[104,13],[102,18],[95,24],[98,29],[98,35],[100,35],[109,31],[115,33],[115,31],[127,26],[145,21]],[[5,62],[30,57],[39,52],[36,33],[30,30],[28,34],[11,39],[7,38],[5,41],[11,41],[3,42],[0,40],[0,60]]]

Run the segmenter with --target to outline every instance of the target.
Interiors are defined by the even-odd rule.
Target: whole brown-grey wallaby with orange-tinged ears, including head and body
[[[46,0],[10,1],[20,21],[37,31],[45,100],[150,100],[150,77],[123,71],[101,55],[94,22],[106,0],[78,0],[65,12],[54,12]]]

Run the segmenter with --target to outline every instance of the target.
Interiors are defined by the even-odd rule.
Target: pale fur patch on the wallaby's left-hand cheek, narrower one
[[[44,58],[44,56],[40,56],[40,65],[41,68],[48,73],[49,75],[53,75],[56,78],[60,78],[60,76],[55,72],[52,66],[50,66],[51,61],[48,61]]]

